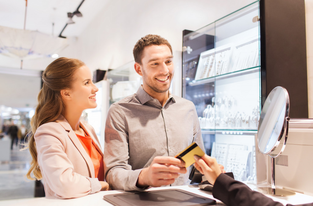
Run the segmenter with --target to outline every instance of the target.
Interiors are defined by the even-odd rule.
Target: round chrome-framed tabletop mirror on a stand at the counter
[[[289,116],[289,95],[285,88],[275,87],[266,98],[261,111],[258,127],[258,146],[262,153],[271,157],[272,187],[258,187],[256,191],[275,196],[291,196],[295,192],[276,188],[275,182],[275,158],[285,148]],[[285,132],[285,135],[284,135]],[[284,136],[284,137],[283,137]],[[283,147],[275,151],[283,138]],[[275,151],[276,154],[273,154]]]

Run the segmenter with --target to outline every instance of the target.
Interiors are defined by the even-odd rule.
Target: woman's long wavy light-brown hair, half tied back
[[[75,72],[85,63],[78,59],[61,57],[48,65],[42,74],[43,87],[38,94],[38,105],[30,122],[31,132],[25,149],[29,149],[32,156],[30,168],[26,177],[31,180],[41,179],[42,174],[37,161],[37,148],[34,134],[37,128],[48,122],[55,122],[60,114],[64,113],[64,103],[61,98],[61,90],[70,89],[75,80]],[[31,176],[33,173],[34,177]]]

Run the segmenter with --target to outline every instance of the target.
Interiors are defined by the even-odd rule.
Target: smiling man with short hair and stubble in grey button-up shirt
[[[169,92],[172,47],[158,35],[136,43],[138,91],[109,109],[105,125],[105,176],[112,189],[186,185],[189,168],[174,156],[193,142],[204,150],[196,108]]]

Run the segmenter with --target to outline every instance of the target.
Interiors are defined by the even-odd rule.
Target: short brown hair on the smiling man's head
[[[142,37],[141,39],[138,40],[138,42],[135,44],[134,49],[133,49],[135,62],[141,64],[143,49],[146,46],[162,45],[162,44],[167,45],[168,48],[170,48],[171,53],[173,54],[171,44],[168,43],[168,41],[165,38],[159,35],[154,35],[154,34],[148,34]]]

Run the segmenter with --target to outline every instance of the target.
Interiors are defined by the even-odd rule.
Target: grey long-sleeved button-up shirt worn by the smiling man
[[[112,189],[141,190],[136,182],[142,168],[156,156],[175,156],[196,142],[204,151],[194,104],[169,95],[164,107],[142,87],[110,106],[105,124],[105,179]],[[189,183],[189,168],[174,185]],[[167,185],[169,186],[169,185]]]

